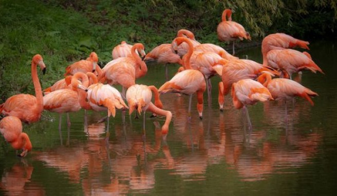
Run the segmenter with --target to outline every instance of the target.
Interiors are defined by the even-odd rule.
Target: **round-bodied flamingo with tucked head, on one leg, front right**
[[[252,130],[247,105],[256,104],[258,101],[265,102],[273,100],[269,90],[252,79],[240,80],[232,86],[233,105],[236,109],[242,108],[247,115],[249,129]]]

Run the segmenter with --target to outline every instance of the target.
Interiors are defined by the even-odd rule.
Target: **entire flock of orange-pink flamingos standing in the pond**
[[[36,54],[31,62],[31,76],[35,96],[17,94],[9,97],[0,105],[0,113],[5,115],[0,121],[0,131],[14,149],[22,149],[20,156],[24,157],[32,149],[32,144],[26,133],[22,132],[22,122],[34,123],[40,120],[43,110],[60,114],[59,132],[61,132],[62,113],[76,112],[81,108],[94,111],[107,111],[108,117],[115,116],[116,108],[129,109],[131,114],[135,109],[139,114],[145,111],[153,115],[165,115],[166,120],[161,128],[166,135],[172,119],[172,113],[163,110],[160,94],[175,92],[190,96],[189,119],[191,118],[192,95],[197,94],[197,110],[202,119],[203,93],[207,89],[211,96],[211,77],[219,75],[219,108],[223,111],[224,96],[231,91],[234,107],[242,108],[246,115],[249,128],[252,129],[247,105],[258,101],[291,100],[295,96],[306,99],[313,105],[311,96],[317,93],[292,80],[292,74],[302,74],[302,70],[312,72],[323,71],[311,59],[308,52],[299,52],[290,48],[301,47],[309,49],[309,42],[298,40],[284,33],[266,36],[262,42],[263,64],[251,60],[242,60],[234,56],[234,41],[251,39],[248,32],[240,24],[232,21],[232,11],[226,9],[222,13],[222,22],[217,27],[220,41],[233,41],[233,55],[214,44],[200,44],[191,31],[181,29],[172,44],[162,44],[145,54],[143,44],[128,45],[122,42],[113,49],[113,61],[102,69],[97,65],[98,55],[92,52],[86,60],[81,60],[66,68],[65,78],[42,91],[38,78],[37,66],[43,73],[46,66],[40,54]],[[155,86],[136,84],[135,80],[146,75],[145,62],[157,61],[165,64],[167,79],[167,64],[181,65],[178,73],[164,83],[159,89]],[[279,77],[274,78],[272,77]],[[121,85],[122,92],[110,85]],[[44,95],[43,95],[44,93]],[[154,93],[155,101],[152,100]],[[125,104],[125,102],[127,104]],[[285,104],[287,111],[287,104]],[[137,114],[136,112],[136,114]],[[286,113],[287,114],[287,113]],[[286,121],[287,121],[287,115]],[[144,117],[145,120],[145,117]],[[69,115],[67,116],[70,125]],[[109,119],[107,119],[107,133]]]

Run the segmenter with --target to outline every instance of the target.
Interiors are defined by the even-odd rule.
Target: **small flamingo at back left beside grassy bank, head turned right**
[[[78,62],[75,62],[71,65],[69,65],[66,68],[66,73],[64,76],[67,75],[74,75],[77,72],[95,72],[98,62],[98,56],[95,52],[91,52],[90,56],[87,58],[87,60],[81,60]]]

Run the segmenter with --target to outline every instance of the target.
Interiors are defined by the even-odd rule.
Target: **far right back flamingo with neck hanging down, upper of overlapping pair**
[[[274,33],[266,36],[261,45],[263,64],[267,65],[267,53],[273,49],[294,48],[296,46],[309,50],[309,42],[298,40],[285,33]]]

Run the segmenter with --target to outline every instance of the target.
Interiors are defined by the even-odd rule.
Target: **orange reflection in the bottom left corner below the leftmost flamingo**
[[[33,166],[22,160],[4,171],[0,188],[5,190],[5,195],[45,195],[41,187],[30,182],[32,173]]]

